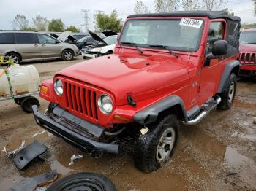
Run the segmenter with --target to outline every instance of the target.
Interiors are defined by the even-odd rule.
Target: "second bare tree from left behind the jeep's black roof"
[[[179,9],[178,0],[155,0],[156,12],[170,12]]]

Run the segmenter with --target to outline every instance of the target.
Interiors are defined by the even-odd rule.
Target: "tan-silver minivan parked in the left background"
[[[79,55],[78,47],[55,39],[48,34],[24,31],[0,31],[0,55],[15,63],[61,58],[71,61]]]

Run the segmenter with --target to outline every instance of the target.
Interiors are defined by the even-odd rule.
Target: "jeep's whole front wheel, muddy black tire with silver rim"
[[[156,171],[173,156],[178,139],[178,119],[170,114],[148,125],[135,146],[135,166],[144,173]]]

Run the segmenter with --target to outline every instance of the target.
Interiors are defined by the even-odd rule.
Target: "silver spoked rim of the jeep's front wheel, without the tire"
[[[173,128],[167,128],[162,133],[157,145],[157,163],[164,163],[168,159],[170,152],[173,150],[175,139],[175,130]]]

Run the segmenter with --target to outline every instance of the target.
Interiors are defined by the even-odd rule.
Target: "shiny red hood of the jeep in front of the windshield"
[[[108,90],[118,98],[116,105],[123,105],[127,104],[127,94],[141,101],[189,84],[186,69],[189,56],[162,57],[102,56],[69,66],[56,76],[71,77]]]

